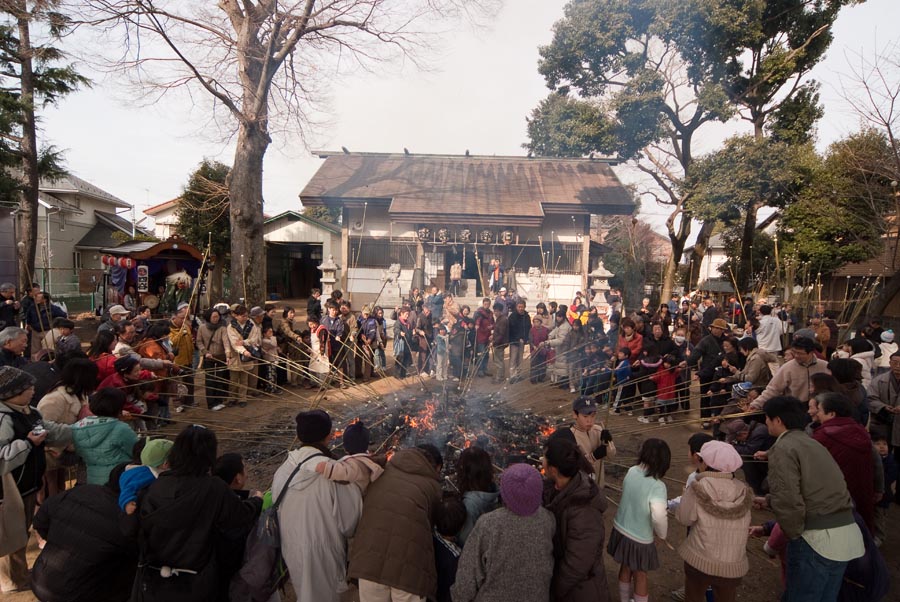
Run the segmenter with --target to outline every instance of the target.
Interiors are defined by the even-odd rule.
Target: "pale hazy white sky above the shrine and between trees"
[[[425,56],[428,68],[391,63],[375,73],[337,75],[328,93],[326,122],[309,139],[278,134],[264,165],[265,212],[300,208],[300,190],[321,165],[309,151],[522,155],[525,118],[548,89],[537,71],[538,47],[552,38],[563,15],[558,0],[506,0],[482,28],[460,24]],[[812,77],[822,82],[825,116],[818,143],[856,130],[858,119],[841,98],[842,74],[860,52],[873,54],[900,39],[900,1],[868,0],[843,9],[834,42]],[[858,59],[856,59],[858,62]],[[43,141],[65,150],[68,169],[135,205],[138,219],[149,206],[177,197],[204,158],[230,165],[234,146],[222,132],[200,131],[201,109],[183,95],[140,106],[121,78],[86,73],[90,89],[63,99],[41,116]],[[714,149],[740,124],[711,129],[698,141]],[[623,181],[633,177],[616,168]],[[664,207],[644,203],[641,215],[663,232]]]

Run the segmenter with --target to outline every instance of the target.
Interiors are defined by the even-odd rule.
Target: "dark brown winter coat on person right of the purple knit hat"
[[[554,602],[609,602],[603,568],[606,532],[603,490],[582,472],[553,495],[547,509],[556,517],[553,536]]]

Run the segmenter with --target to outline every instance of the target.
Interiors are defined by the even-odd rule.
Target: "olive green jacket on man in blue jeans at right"
[[[802,430],[782,434],[769,450],[769,492],[769,506],[790,539],[855,522],[837,462]]]

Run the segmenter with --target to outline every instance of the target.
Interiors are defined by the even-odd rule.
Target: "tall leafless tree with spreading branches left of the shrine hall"
[[[303,135],[319,84],[342,61],[365,67],[399,54],[415,62],[442,20],[477,20],[499,1],[86,0],[85,21],[105,32],[117,26],[126,48],[118,68],[146,89],[200,92],[227,119],[222,125],[236,132],[227,181],[231,274],[246,281],[248,302],[261,302],[262,173],[270,134],[283,127]]]

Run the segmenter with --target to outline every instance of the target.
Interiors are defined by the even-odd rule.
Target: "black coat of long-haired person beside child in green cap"
[[[215,545],[222,531],[250,528],[262,500],[242,501],[222,479],[162,473],[139,500],[137,532],[142,570],[133,600],[218,602]],[[197,571],[164,579],[159,568]],[[155,568],[154,568],[155,567]]]

